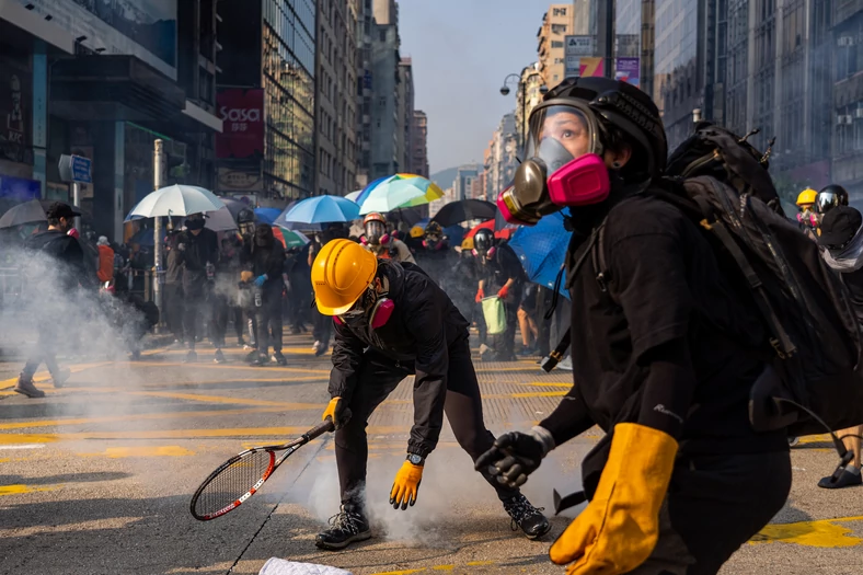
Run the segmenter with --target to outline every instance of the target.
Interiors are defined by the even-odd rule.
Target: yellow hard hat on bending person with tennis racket
[[[377,271],[378,258],[358,243],[344,239],[329,242],[312,264],[318,311],[324,315],[348,311],[371,285]]]

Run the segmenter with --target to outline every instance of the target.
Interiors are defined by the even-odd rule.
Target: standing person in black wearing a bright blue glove
[[[273,235],[268,223],[258,223],[254,240],[243,251],[243,260],[251,266],[255,289],[255,323],[257,325],[257,357],[254,365],[269,363],[269,334],[273,335],[273,357],[280,366],[287,365],[281,354],[281,291],[285,284],[285,250]],[[257,298],[261,297],[261,304]]]

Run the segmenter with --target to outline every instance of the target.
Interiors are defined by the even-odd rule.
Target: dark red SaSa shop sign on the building
[[[249,158],[264,153],[264,91],[219,90],[216,106],[222,133],[216,135],[216,158]]]

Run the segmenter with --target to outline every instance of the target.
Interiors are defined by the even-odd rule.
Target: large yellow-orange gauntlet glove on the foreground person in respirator
[[[549,551],[567,575],[618,575],[644,563],[659,538],[659,507],[677,456],[670,435],[634,423],[614,426],[594,499]]]

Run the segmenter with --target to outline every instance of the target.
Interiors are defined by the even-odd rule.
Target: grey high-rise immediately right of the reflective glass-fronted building
[[[318,2],[315,83],[318,194],[356,189],[357,46],[355,7]]]

